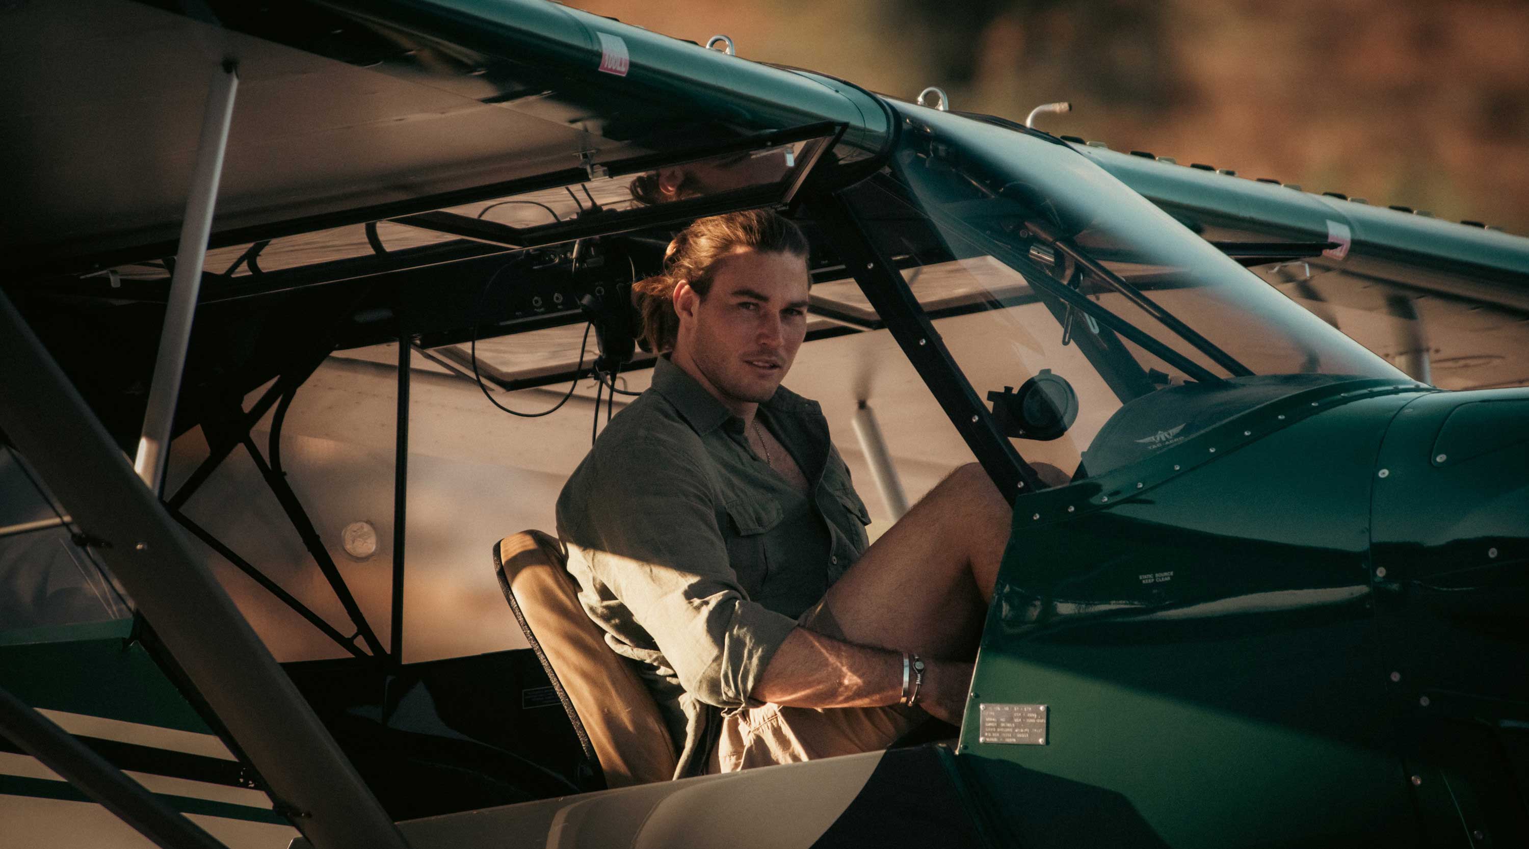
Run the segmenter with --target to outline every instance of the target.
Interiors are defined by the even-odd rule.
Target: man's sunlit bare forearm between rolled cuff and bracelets
[[[790,707],[881,707],[902,696],[902,653],[798,627],[786,636],[752,696]]]

